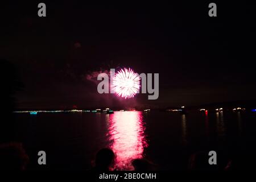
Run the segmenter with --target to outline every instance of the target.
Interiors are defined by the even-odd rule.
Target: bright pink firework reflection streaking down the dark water
[[[110,148],[115,152],[115,168],[133,170],[131,160],[143,158],[148,146],[141,111],[116,111],[109,116]]]

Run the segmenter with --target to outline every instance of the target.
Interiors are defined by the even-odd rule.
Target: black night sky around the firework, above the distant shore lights
[[[24,84],[18,108],[180,106],[256,99],[255,6],[216,2],[1,4],[0,58]],[[159,73],[159,98],[98,94],[88,76]]]

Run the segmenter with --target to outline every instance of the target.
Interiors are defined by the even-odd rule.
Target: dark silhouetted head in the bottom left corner
[[[21,143],[6,143],[0,145],[0,171],[22,171],[26,169],[28,156]]]

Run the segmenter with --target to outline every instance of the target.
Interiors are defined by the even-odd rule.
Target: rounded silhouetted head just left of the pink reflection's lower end
[[[109,148],[102,148],[96,154],[95,167],[96,171],[110,171],[110,167],[114,164],[115,154]]]

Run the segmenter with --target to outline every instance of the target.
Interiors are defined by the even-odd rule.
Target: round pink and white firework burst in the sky
[[[113,77],[114,92],[123,98],[132,98],[139,90],[139,75],[132,69],[121,69]]]

